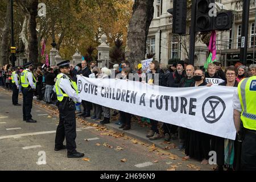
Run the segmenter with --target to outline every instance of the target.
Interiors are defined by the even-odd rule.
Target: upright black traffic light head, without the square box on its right
[[[213,30],[213,16],[209,15],[209,5],[214,0],[197,0],[196,2],[196,32]]]

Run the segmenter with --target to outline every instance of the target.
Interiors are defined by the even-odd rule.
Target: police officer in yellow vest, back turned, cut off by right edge
[[[243,133],[241,169],[256,170],[256,76],[238,84],[233,98],[234,124],[238,135]],[[240,127],[242,121],[243,130]]]

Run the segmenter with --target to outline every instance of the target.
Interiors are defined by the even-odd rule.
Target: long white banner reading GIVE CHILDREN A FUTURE
[[[235,139],[228,86],[168,88],[130,80],[77,77],[82,100],[171,123],[218,137]]]

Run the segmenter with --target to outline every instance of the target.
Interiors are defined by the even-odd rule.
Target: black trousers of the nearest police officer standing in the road
[[[63,142],[66,138],[68,154],[72,154],[76,151],[76,106],[73,101],[68,101],[67,104],[65,104],[65,100],[67,99],[69,98],[64,97],[63,101],[59,102],[58,106],[60,122],[56,131],[55,148],[63,147]]]

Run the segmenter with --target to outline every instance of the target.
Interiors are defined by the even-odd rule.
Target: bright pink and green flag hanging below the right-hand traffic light
[[[206,61],[206,63],[204,64],[204,68],[205,70],[208,68],[208,64],[213,63],[214,61],[216,61],[216,31],[213,30],[212,34],[210,35],[210,42],[209,42],[209,56],[208,59]]]

